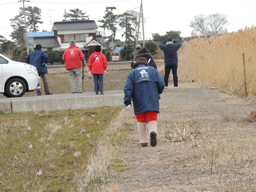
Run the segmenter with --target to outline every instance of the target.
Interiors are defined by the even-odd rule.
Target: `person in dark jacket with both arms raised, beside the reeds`
[[[170,72],[172,71],[174,88],[178,88],[178,54],[177,50],[181,47],[181,43],[167,37],[166,41],[159,45],[159,48],[164,51],[165,55],[165,89],[168,87]]]

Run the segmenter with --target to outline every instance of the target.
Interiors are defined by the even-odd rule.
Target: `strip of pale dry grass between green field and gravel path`
[[[96,152],[88,157],[86,171],[79,176],[82,191],[117,191],[113,183],[112,166],[119,161],[120,143],[127,135],[127,125],[123,119],[127,118],[127,111],[123,110],[102,132],[101,140],[96,144]],[[118,143],[118,144],[117,144]]]

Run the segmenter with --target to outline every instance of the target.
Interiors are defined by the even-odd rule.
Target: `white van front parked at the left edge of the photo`
[[[39,89],[40,78],[36,67],[0,54],[0,93],[6,97],[20,97],[25,92]]]

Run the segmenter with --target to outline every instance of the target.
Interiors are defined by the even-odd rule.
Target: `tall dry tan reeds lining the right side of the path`
[[[184,42],[178,53],[178,73],[201,86],[218,87],[245,96],[243,53],[248,97],[255,99],[256,27]]]

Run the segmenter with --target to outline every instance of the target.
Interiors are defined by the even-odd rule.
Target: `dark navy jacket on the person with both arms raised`
[[[175,66],[178,65],[178,54],[177,50],[181,47],[181,43],[177,41],[170,42],[171,44],[165,44],[163,42],[159,45],[159,48],[164,51],[165,54],[165,66]]]

